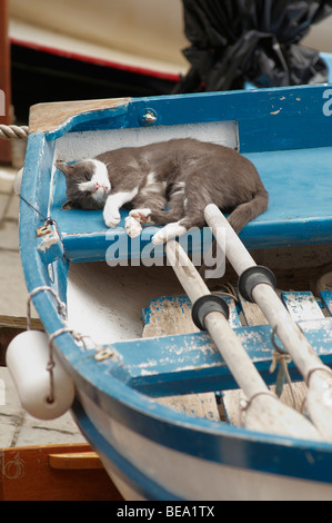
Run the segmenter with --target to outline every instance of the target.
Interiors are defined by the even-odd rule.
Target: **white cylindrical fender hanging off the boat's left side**
[[[70,409],[74,384],[53,351],[53,401],[50,403],[48,336],[26,330],[8,346],[6,363],[18,391],[22,407],[39,420],[54,420]]]

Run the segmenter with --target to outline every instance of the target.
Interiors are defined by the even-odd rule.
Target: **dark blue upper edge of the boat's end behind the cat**
[[[140,115],[152,109],[155,126],[239,121],[242,154],[275,150],[276,144],[283,149],[329,147],[331,119],[324,108],[330,97],[329,86],[318,85],[133,98],[120,107],[77,115],[46,136],[54,140],[66,132],[142,127]]]

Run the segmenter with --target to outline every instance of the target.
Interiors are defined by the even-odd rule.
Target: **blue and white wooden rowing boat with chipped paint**
[[[28,290],[52,341],[32,374],[46,374],[53,396],[34,395],[30,406],[50,416],[71,408],[127,500],[331,500],[332,442],[243,426],[234,375],[193,324],[173,268],[147,255],[155,228],[129,243],[124,209],[115,229],[100,211],[63,211],[64,180],[52,166],[179,136],[221,142],[256,165],[270,193],[266,213],[240,235],[245,247],[319,253],[332,240],[331,96],[329,86],[303,86],[32,107],[20,244]],[[332,366],[332,293],[281,297]],[[275,384],[265,316],[239,292],[225,300],[238,342],[265,384]],[[37,337],[28,334],[32,354]],[[49,379],[57,367],[73,384],[72,404]],[[301,379],[293,362],[289,373]],[[293,389],[299,409],[306,389]]]

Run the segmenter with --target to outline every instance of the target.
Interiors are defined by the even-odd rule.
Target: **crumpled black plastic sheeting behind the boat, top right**
[[[190,70],[175,92],[320,83],[324,60],[301,46],[330,1],[182,0]],[[331,34],[332,38],[332,34]]]

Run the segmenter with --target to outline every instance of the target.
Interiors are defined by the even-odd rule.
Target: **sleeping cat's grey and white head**
[[[66,176],[67,201],[62,209],[101,209],[111,191],[107,166],[99,160],[57,162]]]

